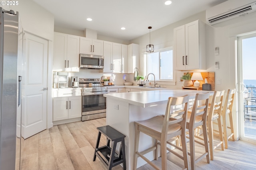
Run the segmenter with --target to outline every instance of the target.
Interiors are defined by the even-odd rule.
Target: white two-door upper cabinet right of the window
[[[206,31],[200,20],[174,28],[175,70],[206,69]]]

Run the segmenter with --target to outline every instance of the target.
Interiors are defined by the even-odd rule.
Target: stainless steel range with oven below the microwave
[[[100,86],[100,78],[79,78],[82,88],[82,121],[106,117],[106,87]]]

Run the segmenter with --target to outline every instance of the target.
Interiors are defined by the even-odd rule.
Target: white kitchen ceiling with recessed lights
[[[54,25],[90,28],[99,35],[131,40],[187,18],[226,0],[34,0],[54,15]],[[86,18],[92,18],[87,21]],[[126,27],[121,30],[121,27]]]

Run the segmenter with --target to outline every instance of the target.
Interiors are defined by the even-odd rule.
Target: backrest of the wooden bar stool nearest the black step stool
[[[185,95],[182,97],[168,98],[168,103],[167,103],[167,107],[164,115],[162,137],[166,138],[169,125],[172,125],[174,123],[179,123],[181,125],[181,128],[182,129],[184,128],[184,131],[185,131],[188,100],[189,100],[188,95]],[[178,110],[175,109],[176,106],[179,107]]]

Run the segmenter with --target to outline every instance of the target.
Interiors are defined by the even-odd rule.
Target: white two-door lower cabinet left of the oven
[[[82,117],[81,96],[53,98],[53,121]]]

